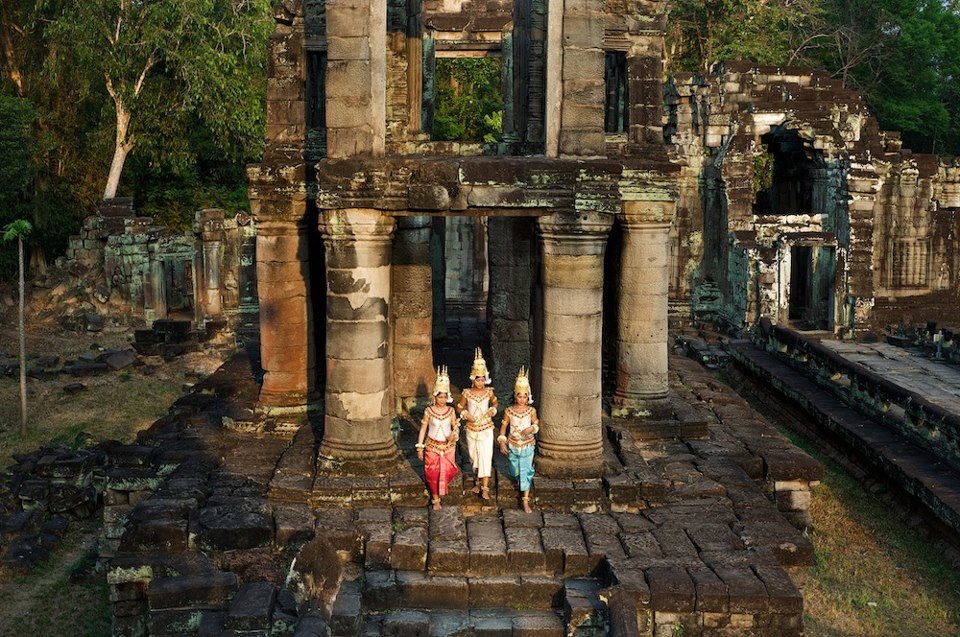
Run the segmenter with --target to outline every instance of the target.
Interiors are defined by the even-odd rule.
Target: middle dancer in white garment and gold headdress
[[[490,384],[487,362],[480,348],[470,370],[471,387],[463,390],[457,409],[466,423],[467,452],[475,472],[473,493],[490,499],[490,474],[493,465],[493,417],[497,414],[497,397]]]

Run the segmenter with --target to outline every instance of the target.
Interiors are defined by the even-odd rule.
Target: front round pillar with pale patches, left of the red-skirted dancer
[[[377,210],[327,210],[327,391],[321,461],[350,473],[397,462],[390,431],[390,248],[394,220]]]

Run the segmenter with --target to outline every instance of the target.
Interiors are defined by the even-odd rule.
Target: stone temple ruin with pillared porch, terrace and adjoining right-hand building
[[[259,351],[138,445],[23,463],[102,494],[115,635],[803,633],[822,470],[672,357],[668,316],[853,337],[955,308],[960,168],[820,73],[664,82],[667,4],[275,3]],[[435,139],[464,59],[498,64],[493,140]],[[412,419],[478,345],[501,400],[532,369],[533,514],[499,464],[492,502],[461,476],[424,507]]]

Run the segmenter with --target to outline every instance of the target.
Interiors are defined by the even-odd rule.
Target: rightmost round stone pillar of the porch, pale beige
[[[645,410],[667,397],[667,311],[673,202],[626,201],[620,218],[620,304],[614,404]]]

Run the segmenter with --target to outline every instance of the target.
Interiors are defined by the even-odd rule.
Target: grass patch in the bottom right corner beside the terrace
[[[937,546],[816,450],[817,563],[804,590],[811,637],[960,634],[960,575]]]

